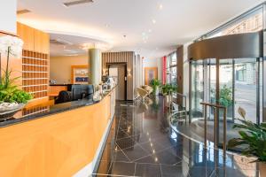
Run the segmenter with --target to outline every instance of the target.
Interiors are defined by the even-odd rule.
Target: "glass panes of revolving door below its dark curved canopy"
[[[262,96],[258,92],[262,91],[260,64],[262,60],[256,58],[192,61],[192,120],[203,118],[201,102],[227,107],[228,121],[239,118],[239,107],[246,110],[246,119],[257,122],[259,115],[262,119]],[[223,112],[221,118],[222,115]],[[214,111],[209,109],[208,119],[213,118]]]

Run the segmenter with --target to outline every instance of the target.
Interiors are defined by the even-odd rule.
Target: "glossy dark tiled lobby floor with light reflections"
[[[260,176],[253,159],[204,149],[168,124],[160,97],[152,104],[118,103],[93,176]]]

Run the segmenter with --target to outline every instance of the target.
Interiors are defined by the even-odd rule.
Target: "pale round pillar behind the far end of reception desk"
[[[102,58],[98,49],[89,50],[90,84],[96,86],[102,81]]]

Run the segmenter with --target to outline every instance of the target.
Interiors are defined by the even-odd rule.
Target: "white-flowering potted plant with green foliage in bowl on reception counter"
[[[11,56],[20,58],[22,44],[23,42],[17,37],[7,35],[0,39],[0,119],[12,117],[33,98],[29,93],[19,89],[16,81],[20,77],[12,77],[12,68],[10,68],[10,58]],[[2,68],[3,56],[6,56],[4,68]]]

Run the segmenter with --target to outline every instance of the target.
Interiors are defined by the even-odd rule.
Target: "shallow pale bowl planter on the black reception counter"
[[[0,104],[0,119],[10,119],[23,109],[25,104]]]

